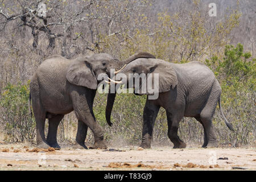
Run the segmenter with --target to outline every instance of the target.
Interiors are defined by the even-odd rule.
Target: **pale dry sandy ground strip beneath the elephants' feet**
[[[34,149],[34,150],[33,150]],[[0,170],[255,170],[256,148],[36,150],[0,144]],[[222,158],[222,159],[220,159]]]

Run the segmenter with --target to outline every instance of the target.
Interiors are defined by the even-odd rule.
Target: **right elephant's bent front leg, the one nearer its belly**
[[[168,122],[168,137],[171,142],[174,143],[174,148],[185,148],[187,144],[183,142],[177,135],[177,130],[179,129],[179,122],[182,116],[172,115],[166,111],[167,122]]]

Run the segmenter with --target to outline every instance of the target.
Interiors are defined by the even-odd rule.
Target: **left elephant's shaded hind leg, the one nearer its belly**
[[[48,135],[46,141],[53,148],[60,148],[59,144],[57,143],[57,129],[63,117],[63,114],[57,114],[52,116],[52,118],[49,118]]]

